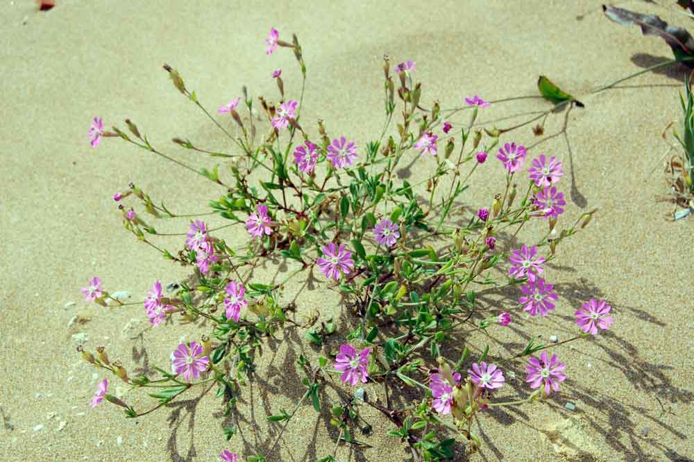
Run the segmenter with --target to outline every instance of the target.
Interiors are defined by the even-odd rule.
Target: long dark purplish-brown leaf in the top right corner
[[[659,35],[672,49],[675,60],[694,67],[694,38],[684,28],[672,26],[656,15],[643,15],[616,6],[603,5],[602,11],[613,22],[639,26],[643,35]]]

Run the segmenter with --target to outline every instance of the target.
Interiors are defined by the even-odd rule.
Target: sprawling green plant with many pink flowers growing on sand
[[[140,305],[153,328],[162,329],[164,320],[178,318],[184,323],[204,320],[207,331],[189,343],[172,342],[171,357],[160,358],[155,377],[133,377],[125,365],[108,358],[103,347],[91,352],[80,347],[85,360],[105,374],[89,405],[95,408],[105,399],[128,418],[138,418],[208,384],[216,386],[228,417],[243,387],[253,381],[255,355],[264,338],[280,329],[296,329],[307,343],[323,347],[314,350],[315,358],[298,358],[298,368],[305,372],[303,397],[293,411],[280,409],[267,416],[282,427],[274,444],[262,449],[264,454],[233,452],[237,429],[223,427],[230,447],[219,448],[219,460],[265,461],[296,410],[309,403],[318,413],[329,412],[336,428],[335,451],[319,459],[322,462],[339,460],[341,443],[368,445],[355,438],[355,429],[364,438],[373,431],[362,418],[364,406],[392,422],[388,435],[409,447],[415,460],[451,459],[456,444],[475,451],[481,444],[476,422],[493,407],[552,399],[570,372],[570,365],[561,361],[560,345],[598,335],[613,322],[605,300],[589,299],[575,311],[576,335],[551,348],[530,341],[513,356],[493,358],[489,345],[473,347],[473,352],[464,340],[479,332],[502,335],[522,316],[551,316],[558,295],[547,264],[556,258],[559,243],[582,231],[594,211],[582,214],[561,233],[552,233],[566,206],[561,192],[564,171],[557,157],[530,158],[523,145],[501,139],[524,124],[507,130],[473,129],[478,112],[507,100],[485,101],[473,95],[461,97],[458,108],[441,110],[438,102],[423,108],[422,85],[414,81],[416,63],[411,60],[393,66],[384,57],[385,122],[373,141],[360,146],[350,133],[329,133],[322,120],[317,122],[317,133],[310,131],[310,123],[301,117],[307,72],[303,49],[296,35],[285,42],[273,28],[266,39],[266,54],[280,49],[296,56],[303,76],[301,94],[285,94],[278,69],[271,73],[278,87],[277,103],[263,97],[254,101],[244,87],[241,95],[219,106],[217,116],[205,109],[176,69],[164,65],[176,90],[228,136],[234,151],[209,151],[180,138],[174,143],[223,158],[231,183],[222,181],[218,167],[196,170],[164,154],[129,119],[127,131],[115,126],[107,130],[102,119],[94,117],[89,131],[92,147],[103,138],[120,138],[193,170],[215,183],[215,195],[223,189],[209,206],[228,224],[211,229],[199,217],[190,220],[191,215],[171,213],[133,184],[115,194],[125,229],[164,258],[189,267],[191,275],[169,288],[153,277],[146,298],[137,303],[122,302],[106,290],[108,283],[102,286],[101,279],[94,277],[82,289],[85,300],[124,309]],[[568,102],[573,104],[558,105]],[[269,122],[267,133],[258,133],[256,104],[257,113]],[[544,113],[545,119],[552,109]],[[244,111],[249,117],[242,118]],[[462,111],[471,114],[466,124],[452,117]],[[401,117],[397,132],[387,135],[396,117]],[[237,126],[237,135],[228,129],[230,124]],[[541,133],[541,126],[534,131]],[[396,168],[411,162],[431,169],[430,177],[414,184],[400,179]],[[499,194],[485,208],[465,210],[457,199],[474,179],[487,182],[489,169],[505,171]],[[170,237],[158,236],[148,220],[176,218],[187,233],[182,233],[175,244],[179,250],[172,253],[157,241]],[[510,248],[531,222],[546,223],[536,226],[546,233]],[[244,230],[246,247],[228,245],[222,230],[230,226]],[[289,268],[279,283],[251,276],[255,267],[276,266],[273,261]],[[294,320],[291,313],[296,307],[283,297],[285,284],[309,275],[319,281],[319,290],[339,293],[351,325],[339,330],[332,319]],[[478,299],[502,288],[506,294],[514,293],[504,302],[506,308]],[[525,364],[528,393],[500,399],[497,395],[508,388],[506,371],[513,362]],[[129,390],[144,390],[151,405],[135,409],[110,394],[113,376]],[[368,383],[372,385],[365,386]],[[389,393],[403,386],[412,388],[418,399],[393,409]],[[375,387],[382,387],[384,400],[371,399]],[[328,394],[323,390],[328,388],[339,399],[325,402]]]

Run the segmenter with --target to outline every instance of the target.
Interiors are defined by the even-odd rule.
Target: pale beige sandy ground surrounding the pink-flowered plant
[[[214,391],[191,394],[137,421],[126,420],[112,406],[87,409],[97,376],[76,354],[72,338],[86,333],[87,347],[105,345],[128,369],[146,371],[166,365],[178,340],[192,340],[201,332],[176,325],[147,329],[141,306],[104,309],[82,301],[78,289],[94,274],[107,290],[128,290],[133,299],[144,297],[155,278],[170,282],[185,276],[122,229],[114,192],[134,181],[182,213],[199,211],[207,199],[221,194],[194,174],[117,140],[92,150],[87,129],[94,115],[107,126],[123,126],[121,120],[130,117],[154,145],[212,166],[213,160],[186,157],[169,142],[181,136],[228,148],[223,135],[171,87],[161,65],[180,69],[211,110],[240,94],[244,84],[253,94],[275,99],[270,74],[276,68],[283,69],[287,90],[296,94],[300,80],[294,56],[264,53],[271,26],[284,37],[298,33],[304,46],[307,117],[323,117],[330,130],[349,133],[360,145],[382,126],[384,53],[395,63],[416,60],[423,101],[437,98],[443,107],[458,106],[464,95],[475,93],[487,99],[536,94],[539,74],[579,95],[586,108],[570,113],[571,151],[557,136],[532,152],[559,156],[567,167],[573,159],[573,169],[566,169],[573,172],[573,185],[569,175],[562,185],[571,201],[560,227],[584,211],[600,211],[589,232],[562,245],[557,265],[548,270],[561,295],[557,313],[544,322],[512,324],[514,330],[504,343],[492,345],[491,354],[515,352],[532,333],[545,341],[552,334],[568,338],[573,311],[591,297],[611,302],[616,324],[594,341],[557,349],[569,376],[560,395],[547,404],[486,415],[481,421],[484,446],[471,460],[694,459],[694,288],[686,244],[694,228],[691,219],[666,221],[670,206],[655,200],[665,192],[659,158],[666,146],[659,135],[679,117],[684,74],[646,74],[619,88],[587,94],[669,58],[661,40],[610,23],[602,17],[600,2],[587,0],[457,1],[426,7],[421,1],[194,3],[65,0],[47,13],[36,13],[30,1],[5,0],[0,6],[0,221],[5,230],[0,244],[0,407],[5,417],[0,460],[212,461],[222,448],[248,456],[273,443],[278,427],[269,429],[265,415],[291,409],[302,393],[294,361],[301,352],[321,354],[301,341],[303,331],[287,329],[277,342],[265,345],[261,373],[244,388],[232,419],[239,434],[229,443],[220,430],[223,417]],[[642,1],[626,6],[694,28],[675,6]],[[543,101],[516,101],[490,108],[480,120],[547,107]],[[558,131],[563,118],[550,117],[546,133]],[[502,140],[536,141],[528,127]],[[419,176],[430,172],[433,163],[427,165]],[[464,199],[471,206],[489,203],[497,192],[482,183]],[[212,226],[221,222],[210,220]],[[183,231],[183,226],[158,224],[169,232]],[[230,242],[239,236],[220,234]],[[182,242],[169,239],[162,245],[176,249]],[[257,274],[264,281],[272,276],[270,269]],[[337,304],[326,303],[326,296],[337,299],[316,286],[298,299],[298,307],[305,313],[321,308],[322,318],[341,318]],[[90,320],[68,327],[76,315]],[[477,347],[484,341],[471,339]],[[518,379],[510,381],[509,396],[522,387],[521,366],[514,366]],[[139,395],[132,399],[146,401]],[[575,410],[566,409],[568,402]],[[328,428],[327,416],[316,415],[310,406],[298,412],[282,436],[281,460],[314,461],[332,454],[337,435]],[[391,424],[366,415],[379,430],[366,438],[374,447],[354,452],[341,446],[339,460],[407,460],[405,445],[382,436]],[[280,460],[277,450],[267,455],[269,461]]]

